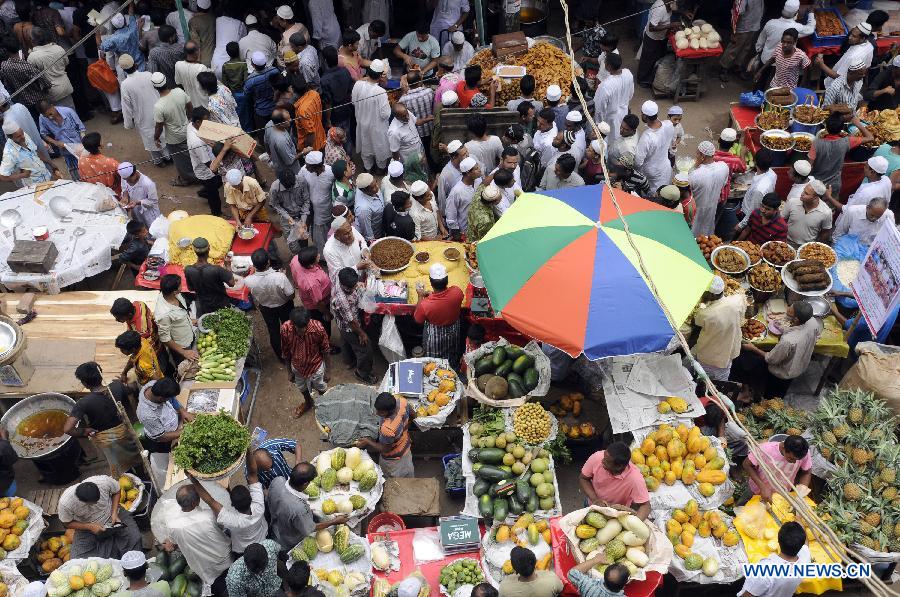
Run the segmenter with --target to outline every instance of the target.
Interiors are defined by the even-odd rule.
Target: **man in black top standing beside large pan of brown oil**
[[[104,386],[103,371],[93,361],[78,365],[75,377],[90,393],[79,398],[72,407],[63,432],[72,437],[88,438],[103,452],[109,474],[118,478],[141,462],[140,448],[125,428],[130,422],[122,421],[113,403],[113,400],[118,400],[123,406],[126,404],[125,385],[116,379]]]

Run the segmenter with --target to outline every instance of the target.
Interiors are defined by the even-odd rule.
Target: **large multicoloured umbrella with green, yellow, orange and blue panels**
[[[681,325],[713,275],[684,216],[620,190],[616,200],[662,302]],[[494,310],[573,357],[662,350],[674,334],[606,185],[521,195],[477,251]]]

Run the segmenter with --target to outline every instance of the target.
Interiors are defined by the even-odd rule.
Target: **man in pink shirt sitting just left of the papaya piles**
[[[641,471],[631,463],[631,450],[613,442],[594,452],[581,467],[581,492],[592,504],[630,507],[641,520],[650,514],[650,493]]]

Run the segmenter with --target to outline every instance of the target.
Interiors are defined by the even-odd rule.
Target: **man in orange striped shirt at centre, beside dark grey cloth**
[[[382,392],[375,398],[375,414],[381,417],[378,440],[357,440],[356,446],[378,452],[385,477],[415,477],[409,426],[416,411],[403,396]]]

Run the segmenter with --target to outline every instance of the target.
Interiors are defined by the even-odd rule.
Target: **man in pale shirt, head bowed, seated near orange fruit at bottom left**
[[[88,477],[68,487],[59,497],[57,515],[75,531],[73,560],[87,557],[119,559],[126,551],[141,549],[141,532],[131,515],[119,508],[119,482],[109,475]],[[117,523],[124,526],[109,530]]]

